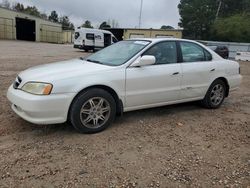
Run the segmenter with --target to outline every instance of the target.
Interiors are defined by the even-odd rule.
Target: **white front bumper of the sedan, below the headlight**
[[[33,95],[14,89],[11,85],[7,98],[13,111],[34,124],[56,124],[67,120],[68,110],[75,93]]]

